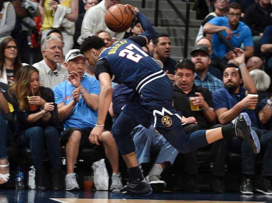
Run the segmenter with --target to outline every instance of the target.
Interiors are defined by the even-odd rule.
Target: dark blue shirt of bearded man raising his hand
[[[220,88],[213,92],[213,104],[214,104],[214,111],[218,110],[219,108],[227,108],[228,110],[233,108],[238,102],[246,97],[246,88],[241,88],[240,91],[236,93],[232,93],[228,91],[226,88]],[[243,108],[241,112],[245,112],[249,115],[251,120],[252,126],[259,128],[259,123],[257,116],[255,114],[254,109]],[[237,112],[238,113],[238,112]]]

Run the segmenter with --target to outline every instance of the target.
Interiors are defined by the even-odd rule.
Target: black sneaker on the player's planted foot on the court
[[[113,194],[118,195],[137,195],[137,196],[145,196],[150,195],[152,193],[152,188],[150,187],[149,181],[147,178],[144,178],[143,180],[135,180],[130,179],[128,180],[127,185],[120,189],[113,189]]]

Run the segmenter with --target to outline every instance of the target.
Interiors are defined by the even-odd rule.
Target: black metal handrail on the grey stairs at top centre
[[[188,38],[189,38],[189,19],[190,19],[190,0],[186,0],[186,17],[182,15],[182,13],[177,9],[177,7],[173,4],[171,0],[166,0],[169,5],[176,12],[177,16],[185,23],[185,37],[184,37],[184,51],[183,57],[187,58],[188,53]],[[145,0],[142,0],[142,7],[145,6]],[[159,19],[159,0],[155,0],[155,13],[154,13],[154,26],[158,26]]]

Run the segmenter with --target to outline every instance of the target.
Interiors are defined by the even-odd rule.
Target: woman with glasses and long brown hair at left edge
[[[0,53],[0,82],[12,85],[22,66],[15,39],[3,39],[0,42]]]

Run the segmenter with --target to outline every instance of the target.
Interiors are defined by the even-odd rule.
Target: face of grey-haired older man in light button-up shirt
[[[61,45],[59,41],[56,39],[48,41],[46,50],[42,50],[42,53],[43,56],[46,57],[48,61],[59,63],[61,54]]]

